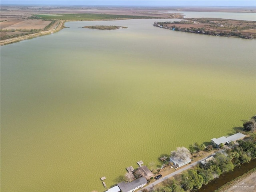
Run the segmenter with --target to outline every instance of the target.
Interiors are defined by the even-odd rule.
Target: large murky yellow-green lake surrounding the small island
[[[255,40],[67,22],[1,47],[1,191],[104,191],[255,113]],[[87,25],[126,26],[92,30]]]

